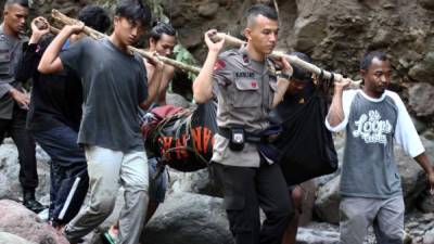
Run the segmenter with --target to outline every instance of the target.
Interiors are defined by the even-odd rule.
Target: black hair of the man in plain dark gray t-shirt
[[[152,18],[151,10],[141,0],[122,1],[116,7],[115,15],[139,22],[143,27],[149,27]]]

